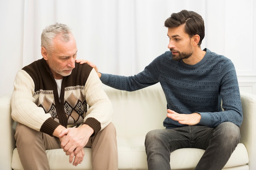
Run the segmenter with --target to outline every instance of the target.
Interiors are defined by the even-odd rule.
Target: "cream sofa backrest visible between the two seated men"
[[[153,129],[164,129],[167,102],[160,85],[127,92],[103,85],[112,102],[117,136],[146,136]]]

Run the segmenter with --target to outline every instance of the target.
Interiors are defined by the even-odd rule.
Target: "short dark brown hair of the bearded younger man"
[[[194,11],[182,10],[178,13],[172,13],[171,17],[164,22],[164,26],[167,28],[175,28],[182,24],[185,24],[185,33],[189,34],[190,37],[194,35],[200,36],[200,41],[198,42],[200,47],[204,39],[204,20],[202,16]]]

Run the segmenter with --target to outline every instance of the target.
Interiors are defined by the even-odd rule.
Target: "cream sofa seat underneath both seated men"
[[[147,156],[144,146],[144,136],[138,137],[117,137],[118,159],[120,170],[147,170]],[[68,162],[69,157],[62,149],[46,150],[51,170],[91,170],[91,150],[84,148],[85,156],[82,164],[77,167]],[[193,169],[200,160],[204,150],[195,148],[182,148],[171,153],[171,169]],[[193,158],[193,159],[191,159]],[[184,163],[186,162],[186,163]],[[236,167],[236,170],[248,170],[248,153],[244,144],[238,144],[224,168]],[[13,150],[13,170],[23,170],[17,149]]]

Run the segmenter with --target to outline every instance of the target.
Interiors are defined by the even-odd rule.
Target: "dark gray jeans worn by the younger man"
[[[195,170],[221,170],[240,138],[239,127],[231,122],[221,123],[215,128],[184,126],[149,131],[145,140],[148,170],[171,170],[170,154],[179,148],[205,150]]]

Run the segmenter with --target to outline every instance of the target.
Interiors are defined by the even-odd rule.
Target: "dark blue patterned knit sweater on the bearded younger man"
[[[204,51],[204,58],[195,65],[174,61],[171,52],[167,51],[135,76],[102,73],[101,81],[126,91],[160,82],[168,109],[177,113],[200,113],[198,125],[216,127],[222,122],[233,122],[240,127],[243,113],[234,64],[222,55],[208,49]],[[171,129],[186,125],[166,117],[164,126]]]

